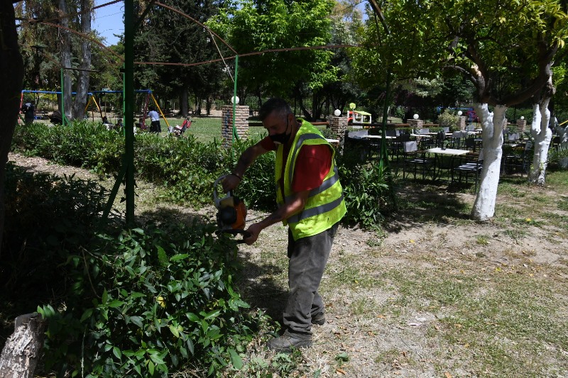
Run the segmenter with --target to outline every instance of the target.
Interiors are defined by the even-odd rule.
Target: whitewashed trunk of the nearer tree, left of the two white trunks
[[[498,105],[491,113],[488,104],[475,104],[477,116],[481,121],[484,140],[484,165],[481,170],[479,191],[471,209],[471,218],[487,221],[495,213],[501,156],[503,155],[503,123],[507,106]]]

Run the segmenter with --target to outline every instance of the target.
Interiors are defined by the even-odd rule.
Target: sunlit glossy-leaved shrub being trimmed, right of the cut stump
[[[239,311],[248,305],[232,289],[236,247],[214,228],[148,225],[70,254],[65,310],[38,308],[49,320],[45,366],[77,374],[83,365],[87,377],[165,377],[190,360],[209,374],[241,367],[256,319]]]

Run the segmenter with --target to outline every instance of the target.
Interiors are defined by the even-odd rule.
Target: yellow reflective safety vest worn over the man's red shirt
[[[310,191],[304,209],[283,221],[284,225],[288,224],[290,227],[294,240],[316,235],[327,230],[340,221],[347,211],[342,185],[339,183],[339,172],[335,165],[335,149],[327,143],[320,130],[317,130],[311,123],[302,118],[297,118],[297,121],[302,122],[302,126],[297,130],[288,154],[288,160],[285,162],[284,190],[279,187],[280,175],[283,172],[284,146],[279,145],[278,150],[276,150],[275,182],[276,202],[278,205],[284,204],[285,199],[290,199],[294,194],[292,191],[292,179],[294,177],[296,158],[302,145],[328,145],[332,149],[332,166],[322,185]],[[284,193],[285,198],[283,198],[282,193]]]

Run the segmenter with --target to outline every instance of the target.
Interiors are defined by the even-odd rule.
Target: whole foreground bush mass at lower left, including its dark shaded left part
[[[3,313],[43,303],[46,372],[162,377],[190,362],[209,374],[239,368],[265,319],[241,313],[248,305],[233,289],[234,241],[197,221],[113,231],[121,219],[98,218],[106,197],[95,182],[8,165],[1,297],[20,308]]]

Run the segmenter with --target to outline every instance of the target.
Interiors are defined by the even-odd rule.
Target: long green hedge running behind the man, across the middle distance
[[[163,138],[151,133],[136,135],[134,159],[139,178],[168,189],[171,201],[202,206],[212,203],[212,184],[231,172],[236,159],[257,140],[237,141],[232,149],[219,143],[200,143],[188,138]],[[116,174],[121,168],[124,138],[96,124],[46,127],[41,123],[18,126],[13,149],[39,155],[60,164]],[[249,208],[275,209],[274,154],[262,155],[249,167],[235,194]],[[340,180],[346,191],[346,221],[366,228],[380,226],[384,198],[388,194],[384,172],[375,165],[359,165],[339,156]]]

